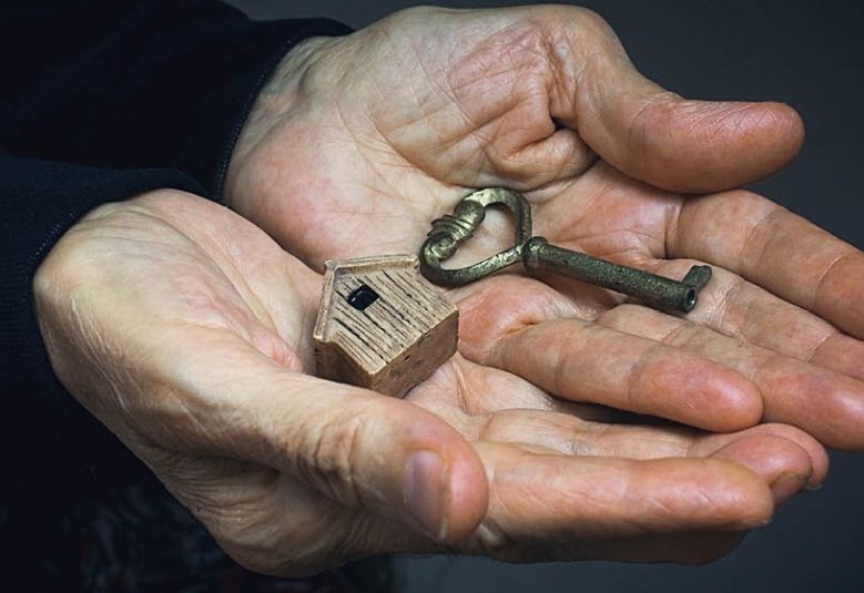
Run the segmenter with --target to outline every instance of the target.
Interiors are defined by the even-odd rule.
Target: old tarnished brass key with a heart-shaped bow
[[[516,244],[467,267],[441,267],[441,262],[451,257],[459,245],[474,235],[486,216],[486,208],[494,205],[507,206],[514,213]],[[529,273],[556,272],[636,297],[657,309],[684,313],[695,307],[699,292],[711,278],[710,266],[693,266],[679,282],[550,245],[543,237],[531,236],[531,207],[525,197],[504,187],[480,190],[465,197],[453,214],[433,223],[433,229],[420,249],[424,276],[445,286],[478,280],[520,260]]]

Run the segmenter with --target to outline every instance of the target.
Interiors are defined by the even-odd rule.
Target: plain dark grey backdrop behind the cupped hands
[[[255,18],[332,17],[359,28],[411,2],[233,0]],[[441,2],[494,7],[517,2]],[[530,3],[530,2],[518,2]],[[699,99],[776,100],[803,115],[801,155],[755,190],[864,247],[864,8],[854,1],[580,2],[616,29],[637,67]],[[864,282],[864,278],[862,279]],[[507,565],[405,559],[410,593],[447,591],[864,591],[864,459],[833,453],[825,487],[780,509],[705,568],[606,562]]]

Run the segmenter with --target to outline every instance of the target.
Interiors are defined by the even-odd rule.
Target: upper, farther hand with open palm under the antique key
[[[292,52],[226,195],[316,268],[416,253],[487,185],[524,191],[553,244],[678,278],[709,263],[687,317],[553,276],[476,283],[454,294],[460,351],[569,400],[707,430],[786,422],[862,450],[861,253],[751,193],[684,195],[773,172],[802,135],[784,105],[663,91],[588,11],[424,8]],[[498,222],[466,259],[510,236]]]

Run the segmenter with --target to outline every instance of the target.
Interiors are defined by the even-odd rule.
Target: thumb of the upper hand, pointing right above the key
[[[800,150],[804,129],[790,106],[684,100],[637,72],[602,19],[577,14],[572,53],[552,57],[551,115],[620,171],[665,190],[701,193],[762,178]],[[561,29],[560,21],[549,27]]]

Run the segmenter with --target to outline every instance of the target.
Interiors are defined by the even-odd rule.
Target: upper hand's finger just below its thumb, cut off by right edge
[[[864,255],[804,218],[750,192],[684,203],[669,257],[726,268],[864,338]]]

